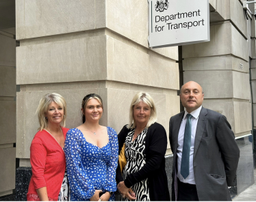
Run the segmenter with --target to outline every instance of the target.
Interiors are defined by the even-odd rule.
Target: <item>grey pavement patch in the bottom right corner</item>
[[[254,169],[254,184],[246,188],[238,196],[234,197],[232,201],[256,201],[256,169]]]

